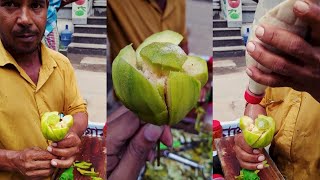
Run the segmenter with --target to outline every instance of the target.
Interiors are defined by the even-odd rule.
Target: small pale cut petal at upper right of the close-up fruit
[[[201,87],[207,83],[208,66],[204,59],[196,56],[188,56],[182,68],[188,75],[199,80],[201,82]]]

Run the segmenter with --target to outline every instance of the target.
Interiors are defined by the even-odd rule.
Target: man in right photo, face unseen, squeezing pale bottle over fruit
[[[267,74],[249,67],[247,74],[258,83],[282,88],[268,88],[261,104],[248,105],[245,114],[267,114],[275,119],[270,155],[286,179],[320,179],[320,6],[309,0],[297,1],[294,13],[309,25],[308,42],[263,25],[254,32],[256,36],[283,54],[277,55],[256,41],[247,45],[248,53],[273,71]],[[242,135],[236,136],[235,144],[243,168],[264,168],[261,150],[250,148]]]

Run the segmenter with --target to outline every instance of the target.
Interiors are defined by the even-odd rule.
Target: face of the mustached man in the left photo
[[[10,53],[37,50],[47,21],[47,0],[0,0],[0,38]]]

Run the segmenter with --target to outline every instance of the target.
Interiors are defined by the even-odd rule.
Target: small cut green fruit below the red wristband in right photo
[[[241,117],[240,129],[252,148],[263,148],[271,143],[276,128],[271,117],[259,115],[255,121],[248,116]]]

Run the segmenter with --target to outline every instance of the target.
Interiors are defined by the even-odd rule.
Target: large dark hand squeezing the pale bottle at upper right
[[[302,7],[302,8],[301,8]],[[248,67],[247,74],[256,82],[271,87],[291,87],[306,91],[320,102],[320,7],[297,1],[295,14],[311,28],[311,42],[275,27],[263,25],[256,29],[256,36],[283,54],[275,54],[259,42],[249,42],[247,51],[257,62],[272,70],[264,73],[256,67]]]

